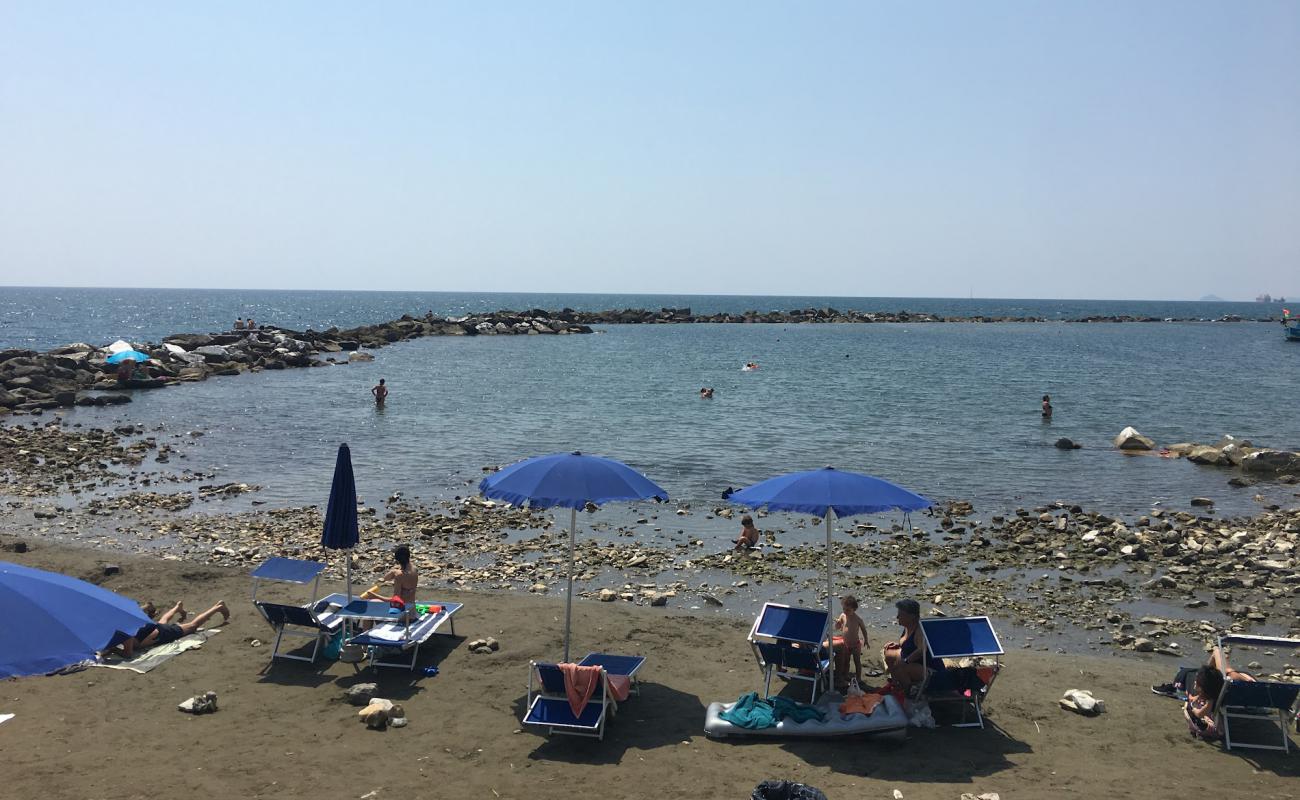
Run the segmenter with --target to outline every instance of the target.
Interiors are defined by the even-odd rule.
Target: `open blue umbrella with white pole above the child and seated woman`
[[[872,475],[841,472],[835,467],[790,472],[733,492],[733,503],[770,511],[794,511],[826,518],[826,602],[832,607],[831,518],[916,511],[935,505],[920,494]]]

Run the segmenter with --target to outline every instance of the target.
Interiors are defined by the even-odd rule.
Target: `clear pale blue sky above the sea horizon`
[[[1244,299],[1297,274],[1294,0],[0,0],[0,285]]]

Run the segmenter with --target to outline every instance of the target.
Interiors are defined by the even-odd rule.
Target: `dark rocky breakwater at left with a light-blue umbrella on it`
[[[121,384],[108,363],[108,347],[75,342],[47,353],[0,350],[0,414],[40,414],[66,406],[104,406],[131,401],[129,389],[152,389],[179,381],[200,381],[261,369],[328,367],[333,354],[348,353],[342,363],[368,360],[361,349],[377,349],[426,336],[563,336],[590,333],[572,316],[541,310],[498,311],[462,317],[426,315],[359,328],[303,332],[263,325],[256,330],[177,333],[161,343],[133,343],[150,356],[148,380]]]

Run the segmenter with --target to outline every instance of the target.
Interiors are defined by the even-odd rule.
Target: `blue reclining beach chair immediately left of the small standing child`
[[[772,695],[772,675],[812,683],[812,697],[822,682],[831,687],[831,660],[824,654],[831,614],[824,609],[800,609],[777,602],[763,609],[749,631],[758,669],[763,671],[763,696]]]

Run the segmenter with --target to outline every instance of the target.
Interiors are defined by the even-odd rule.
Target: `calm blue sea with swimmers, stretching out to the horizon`
[[[237,316],[324,329],[429,310],[563,306],[1279,313],[1256,303],[0,287],[0,349],[159,341],[226,329]],[[749,360],[762,368],[741,372]],[[727,487],[835,464],[984,511],[1054,500],[1143,511],[1205,494],[1228,514],[1257,510],[1261,488],[1230,488],[1228,472],[1184,460],[1123,457],[1110,438],[1131,424],[1161,444],[1232,433],[1300,449],[1297,367],[1300,346],[1275,323],[614,325],[594,336],[426,338],[378,350],[373,363],[139,392],[130,405],[66,418],[161,425],[159,436],[203,431],[172,466],[261,484],[257,498],[273,505],[324,502],[334,449],[347,441],[372,503],[394,490],[465,494],[486,464],[580,449],[627,460],[697,505],[720,503]],[[391,386],[382,411],[369,397],[380,377]],[[701,386],[716,397],[699,399]],[[1039,415],[1044,393],[1050,423]],[[1084,449],[1054,449],[1062,436]],[[1292,487],[1262,492],[1294,503]]]

